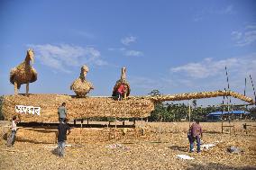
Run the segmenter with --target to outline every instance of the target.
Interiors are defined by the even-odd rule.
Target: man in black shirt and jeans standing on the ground
[[[58,126],[58,155],[59,157],[64,157],[65,153],[65,145],[67,140],[67,131],[69,130],[70,133],[70,127],[68,125],[68,119],[64,119],[63,122],[59,122]],[[68,135],[69,135],[68,133]]]

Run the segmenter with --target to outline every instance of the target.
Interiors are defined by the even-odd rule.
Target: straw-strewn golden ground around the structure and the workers
[[[5,123],[0,123],[2,136]],[[256,128],[248,127],[246,134],[243,123],[235,122],[235,131],[231,129],[231,133],[224,128],[224,134],[219,122],[201,123],[205,132],[203,143],[215,147],[203,149],[200,154],[187,152],[187,122],[137,122],[137,129],[144,128],[145,134],[133,139],[68,141],[71,146],[66,147],[65,157],[57,156],[53,143],[34,143],[18,137],[14,147],[8,148],[2,137],[0,169],[256,169]],[[229,153],[230,146],[241,152]],[[195,159],[185,160],[177,155]]]

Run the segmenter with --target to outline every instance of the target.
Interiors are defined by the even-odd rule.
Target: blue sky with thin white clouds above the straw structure
[[[247,78],[253,97],[255,7],[253,0],[0,0],[0,95],[14,94],[10,70],[32,48],[31,94],[74,94],[69,86],[83,65],[95,86],[89,96],[111,95],[122,67],[131,95],[224,90],[226,66],[230,90],[243,94]]]

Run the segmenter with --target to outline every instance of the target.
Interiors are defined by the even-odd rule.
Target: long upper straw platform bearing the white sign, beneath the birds
[[[154,109],[154,103],[148,99],[127,99],[115,101],[112,97],[77,98],[61,94],[5,95],[2,112],[5,120],[10,120],[15,105],[41,107],[40,115],[21,113],[22,121],[55,122],[58,121],[58,107],[67,103],[69,120],[90,117],[144,118]]]

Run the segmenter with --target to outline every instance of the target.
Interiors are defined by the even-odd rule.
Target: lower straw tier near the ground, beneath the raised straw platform
[[[43,128],[43,129],[42,129]],[[53,128],[53,127],[50,127]],[[68,135],[69,143],[97,143],[116,139],[137,139],[141,131],[139,129],[124,129],[114,128],[72,128]],[[17,141],[29,141],[32,143],[53,144],[57,141],[57,127],[55,130],[48,130],[48,127],[32,127],[20,129],[17,132]]]

